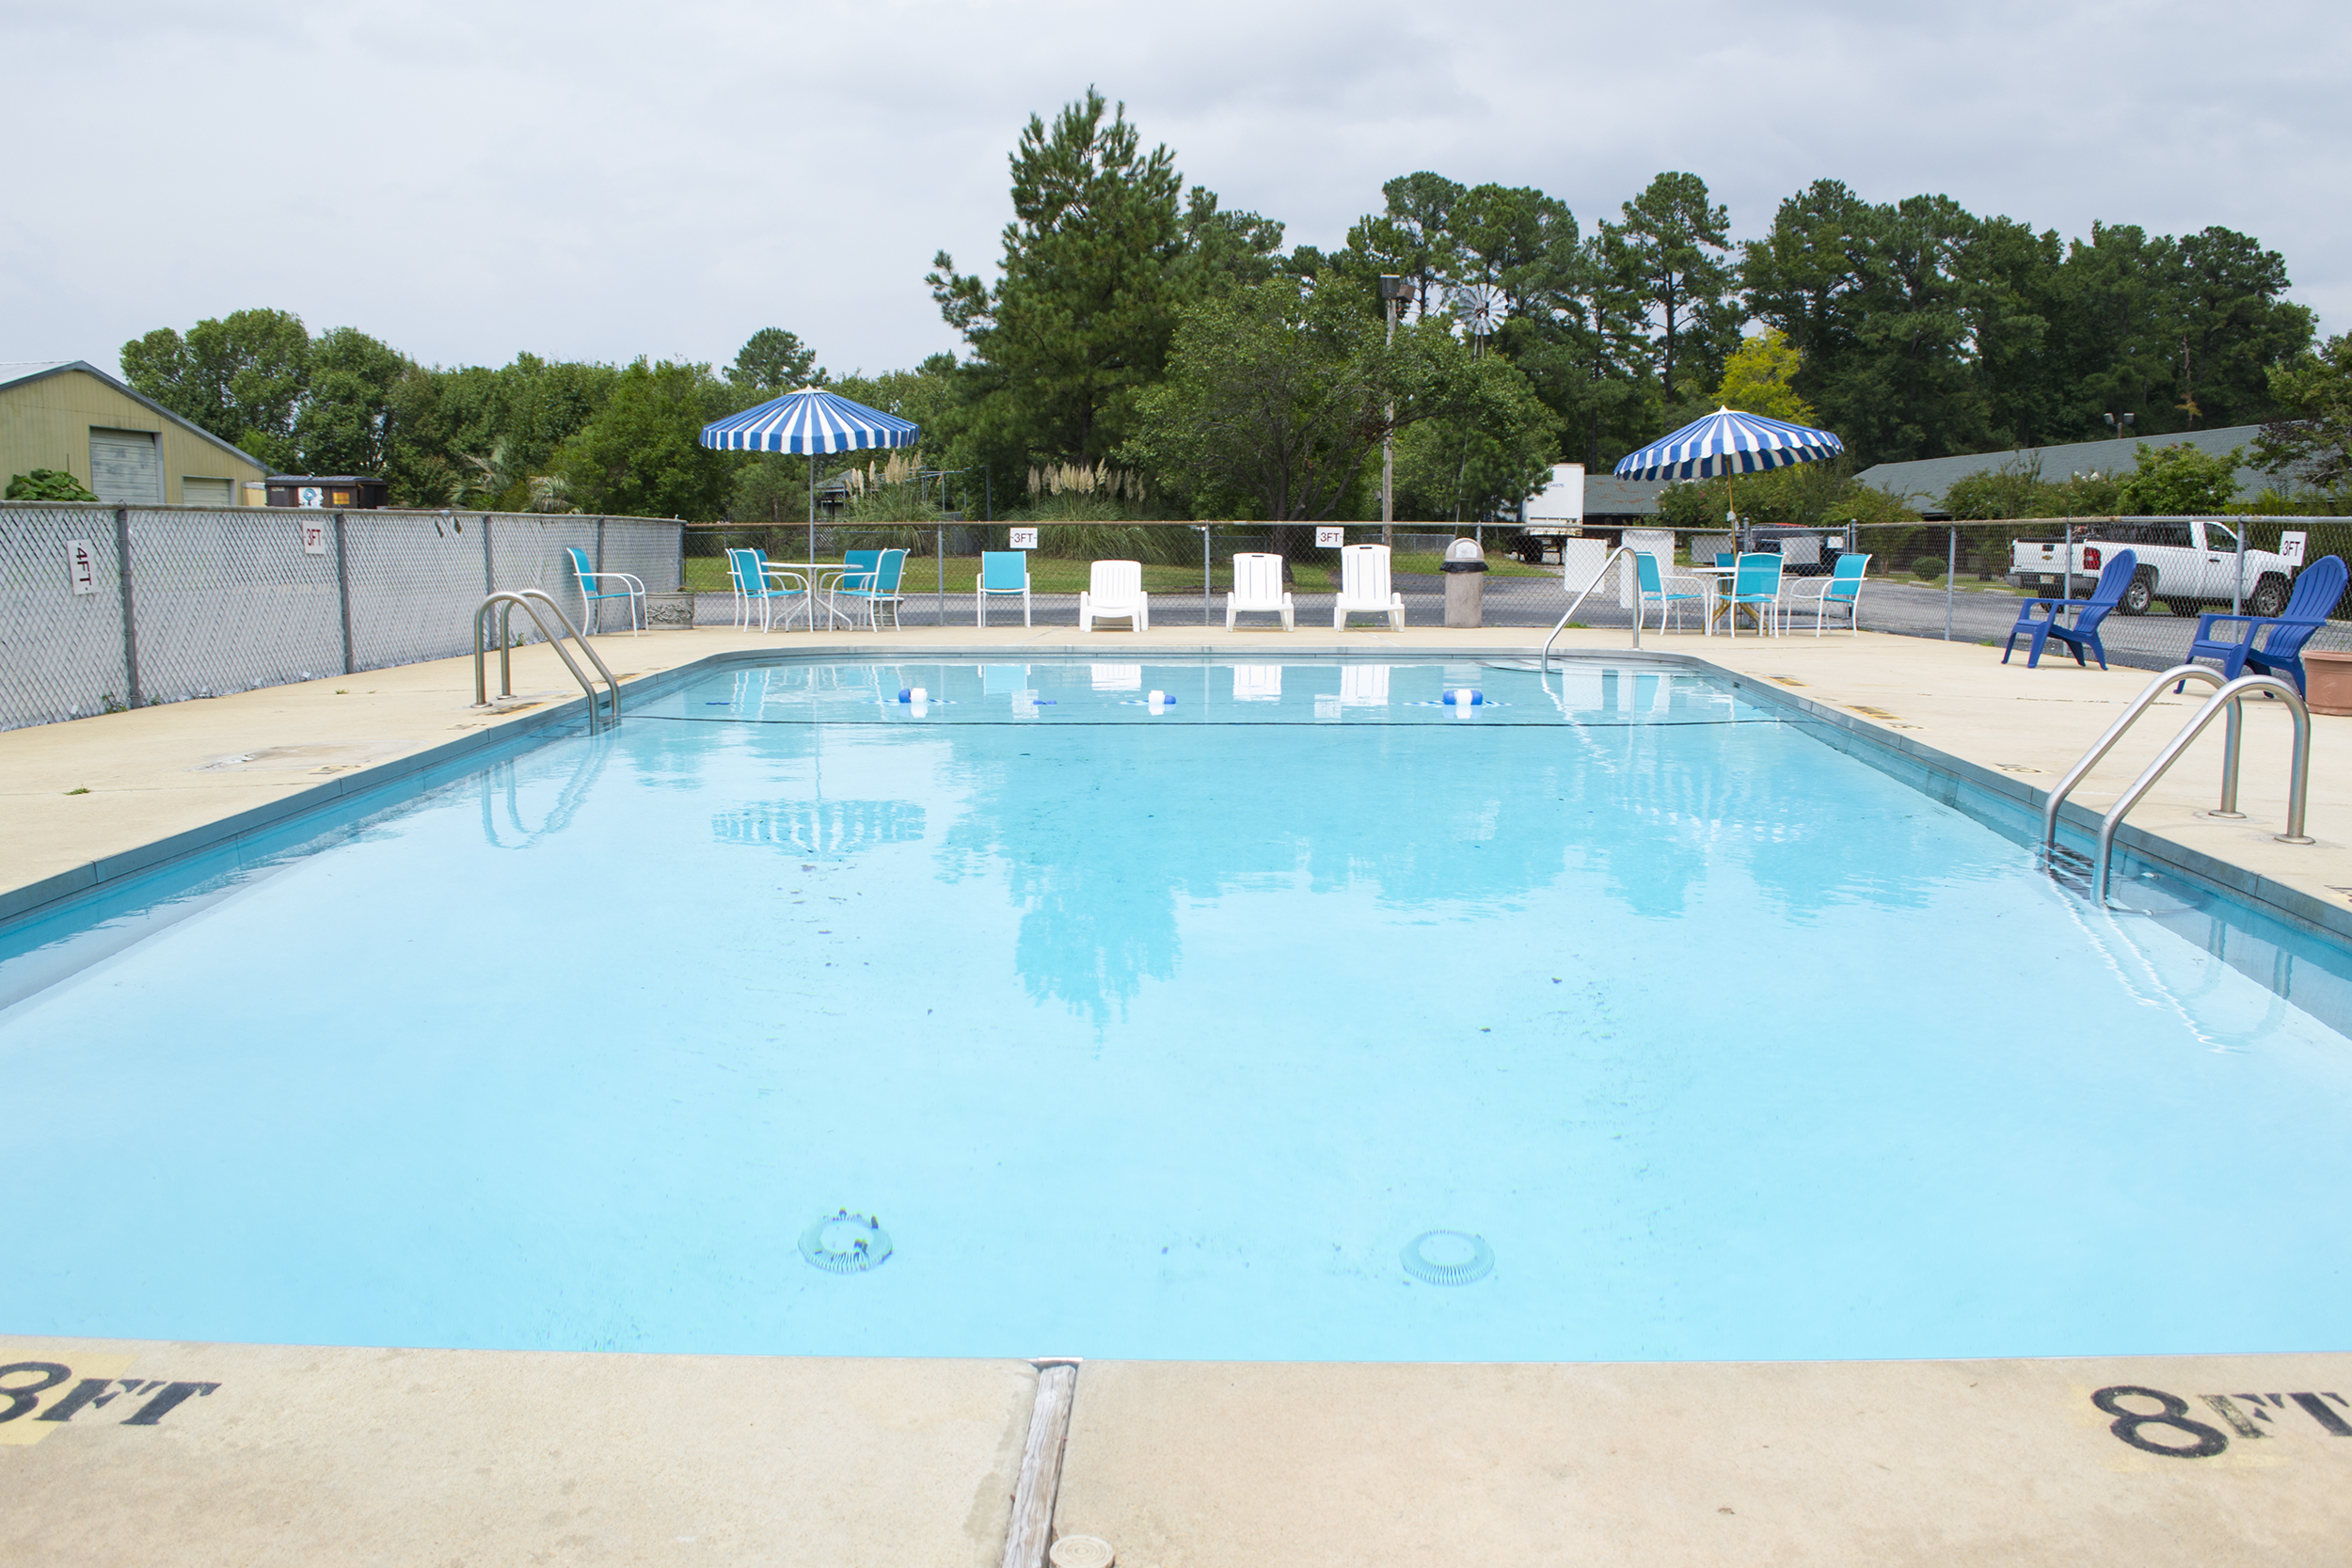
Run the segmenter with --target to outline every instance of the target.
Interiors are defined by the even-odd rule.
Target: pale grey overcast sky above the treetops
[[[1381,181],[1541,186],[1590,230],[1691,169],[1736,235],[1842,179],[2086,235],[2223,223],[2352,327],[2352,7],[1195,0],[0,0],[0,360],[245,306],[440,364],[835,371],[953,348],[1007,153],[1098,85],[1188,183],[1336,244]]]

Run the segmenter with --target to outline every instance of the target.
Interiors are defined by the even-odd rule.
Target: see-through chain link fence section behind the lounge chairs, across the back
[[[981,550],[1011,548],[1014,529],[1035,534],[1030,562],[1033,625],[1077,625],[1077,592],[1094,559],[1143,562],[1152,628],[1223,625],[1232,557],[1272,552],[1284,557],[1287,581],[1301,628],[1331,625],[1338,590],[1338,545],[1381,543],[1381,524],[1263,522],[1136,522],[1136,524],[962,524],[938,527],[833,527],[816,529],[816,559],[840,562],[844,550],[908,550],[901,581],[901,625],[976,625],[974,578]],[[2298,562],[2321,555],[2352,559],[2352,517],[2070,517],[2018,522],[1917,522],[1851,529],[1590,529],[1583,534],[1519,527],[1411,524],[1392,531],[1392,588],[1404,597],[1406,625],[1444,623],[1444,574],[1439,562],[1454,538],[1479,543],[1482,623],[1552,625],[1597,576],[1621,543],[1661,557],[1668,571],[1712,567],[1740,550],[1783,557],[1783,583],[1802,585],[1828,576],[1846,552],[1870,557],[1860,595],[1860,628],[1903,637],[1950,637],[1999,646],[2016,625],[2025,599],[2063,597],[2072,562],[2072,597],[2084,599],[2098,581],[2093,567],[2105,552],[2131,548],[2140,562],[2143,592],[2126,597],[2107,618],[2103,642],[2112,663],[2161,670],[2180,663],[2204,611],[2249,614],[2284,602]],[[729,625],[736,599],[727,590],[724,550],[748,545],[771,562],[809,559],[804,527],[743,529],[694,527],[684,538],[684,578],[696,592],[699,625]],[[1635,583],[1623,562],[1583,604],[1576,625],[1630,628]],[[1802,592],[1802,588],[1799,588]],[[1790,595],[1797,597],[1797,595]],[[997,599],[990,625],[1018,623],[1021,604]],[[2352,597],[2336,607],[2352,616]],[[823,616],[818,616],[823,618]],[[1263,616],[1249,618],[1261,623]],[[1832,618],[1835,621],[1835,618]],[[1357,625],[1371,625],[1357,618]],[[1696,632],[1698,614],[1682,616],[1679,630]],[[1811,635],[1799,616],[1792,632]],[[2352,646],[2352,623],[2321,630],[2310,646]]]

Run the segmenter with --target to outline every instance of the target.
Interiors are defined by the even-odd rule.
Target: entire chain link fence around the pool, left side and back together
[[[306,524],[320,536],[306,541]],[[976,625],[978,557],[1011,548],[1014,529],[1035,534],[1025,550],[1030,623],[1044,628],[1077,625],[1077,595],[1096,559],[1143,562],[1155,628],[1223,625],[1232,557],[1254,552],[1284,557],[1296,623],[1329,628],[1338,543],[1383,538],[1381,524],[1357,522],[823,524],[816,559],[903,548],[898,623]],[[2103,642],[2112,663],[2150,670],[2185,656],[2201,611],[2258,614],[2284,597],[2298,562],[2352,559],[2352,517],[1919,522],[1743,536],[1399,522],[1390,534],[1390,583],[1404,597],[1406,625],[1444,625],[1439,562],[1456,538],[1484,552],[1484,625],[1550,628],[1604,576],[1602,562],[1621,543],[1658,555],[1670,571],[1710,567],[1743,548],[1771,550],[1790,583],[1832,571],[1844,552],[1865,552],[1863,630],[1992,646],[2009,637],[2025,599],[2067,590],[2067,564],[2082,567],[2072,576],[2072,597],[2082,599],[2096,583],[2093,557],[2131,548],[2147,581],[2107,618]],[[804,562],[809,531],[642,517],[0,503],[0,729],[461,656],[473,646],[473,609],[492,588],[541,588],[583,616],[567,545],[586,550],[597,571],[642,578],[656,595],[654,625],[731,625],[739,609],[724,550],[748,545],[779,564]],[[1611,576],[1585,595],[1576,625],[1632,625],[1632,571],[1621,562]],[[597,609],[607,630],[626,616],[619,602]],[[1016,625],[1018,616],[1018,599],[988,607],[990,625]],[[2336,616],[2352,616],[2352,602]],[[1357,616],[1355,625],[1378,621]],[[1679,630],[1696,632],[1698,616],[1682,616]],[[1809,635],[1811,623],[1790,630]],[[529,632],[522,618],[517,632]],[[2352,621],[2321,630],[2310,646],[2352,646]]]

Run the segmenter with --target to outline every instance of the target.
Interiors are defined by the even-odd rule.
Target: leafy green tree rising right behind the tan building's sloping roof
[[[296,463],[294,414],[310,334],[292,310],[235,310],[188,336],[158,327],[122,346],[122,378],[273,470]]]

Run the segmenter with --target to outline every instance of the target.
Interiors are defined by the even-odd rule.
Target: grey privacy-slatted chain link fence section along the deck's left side
[[[647,517],[0,503],[0,729],[468,654],[492,588],[539,588],[586,628],[564,548],[675,595],[680,529]],[[619,602],[600,609],[607,628],[626,616]]]

